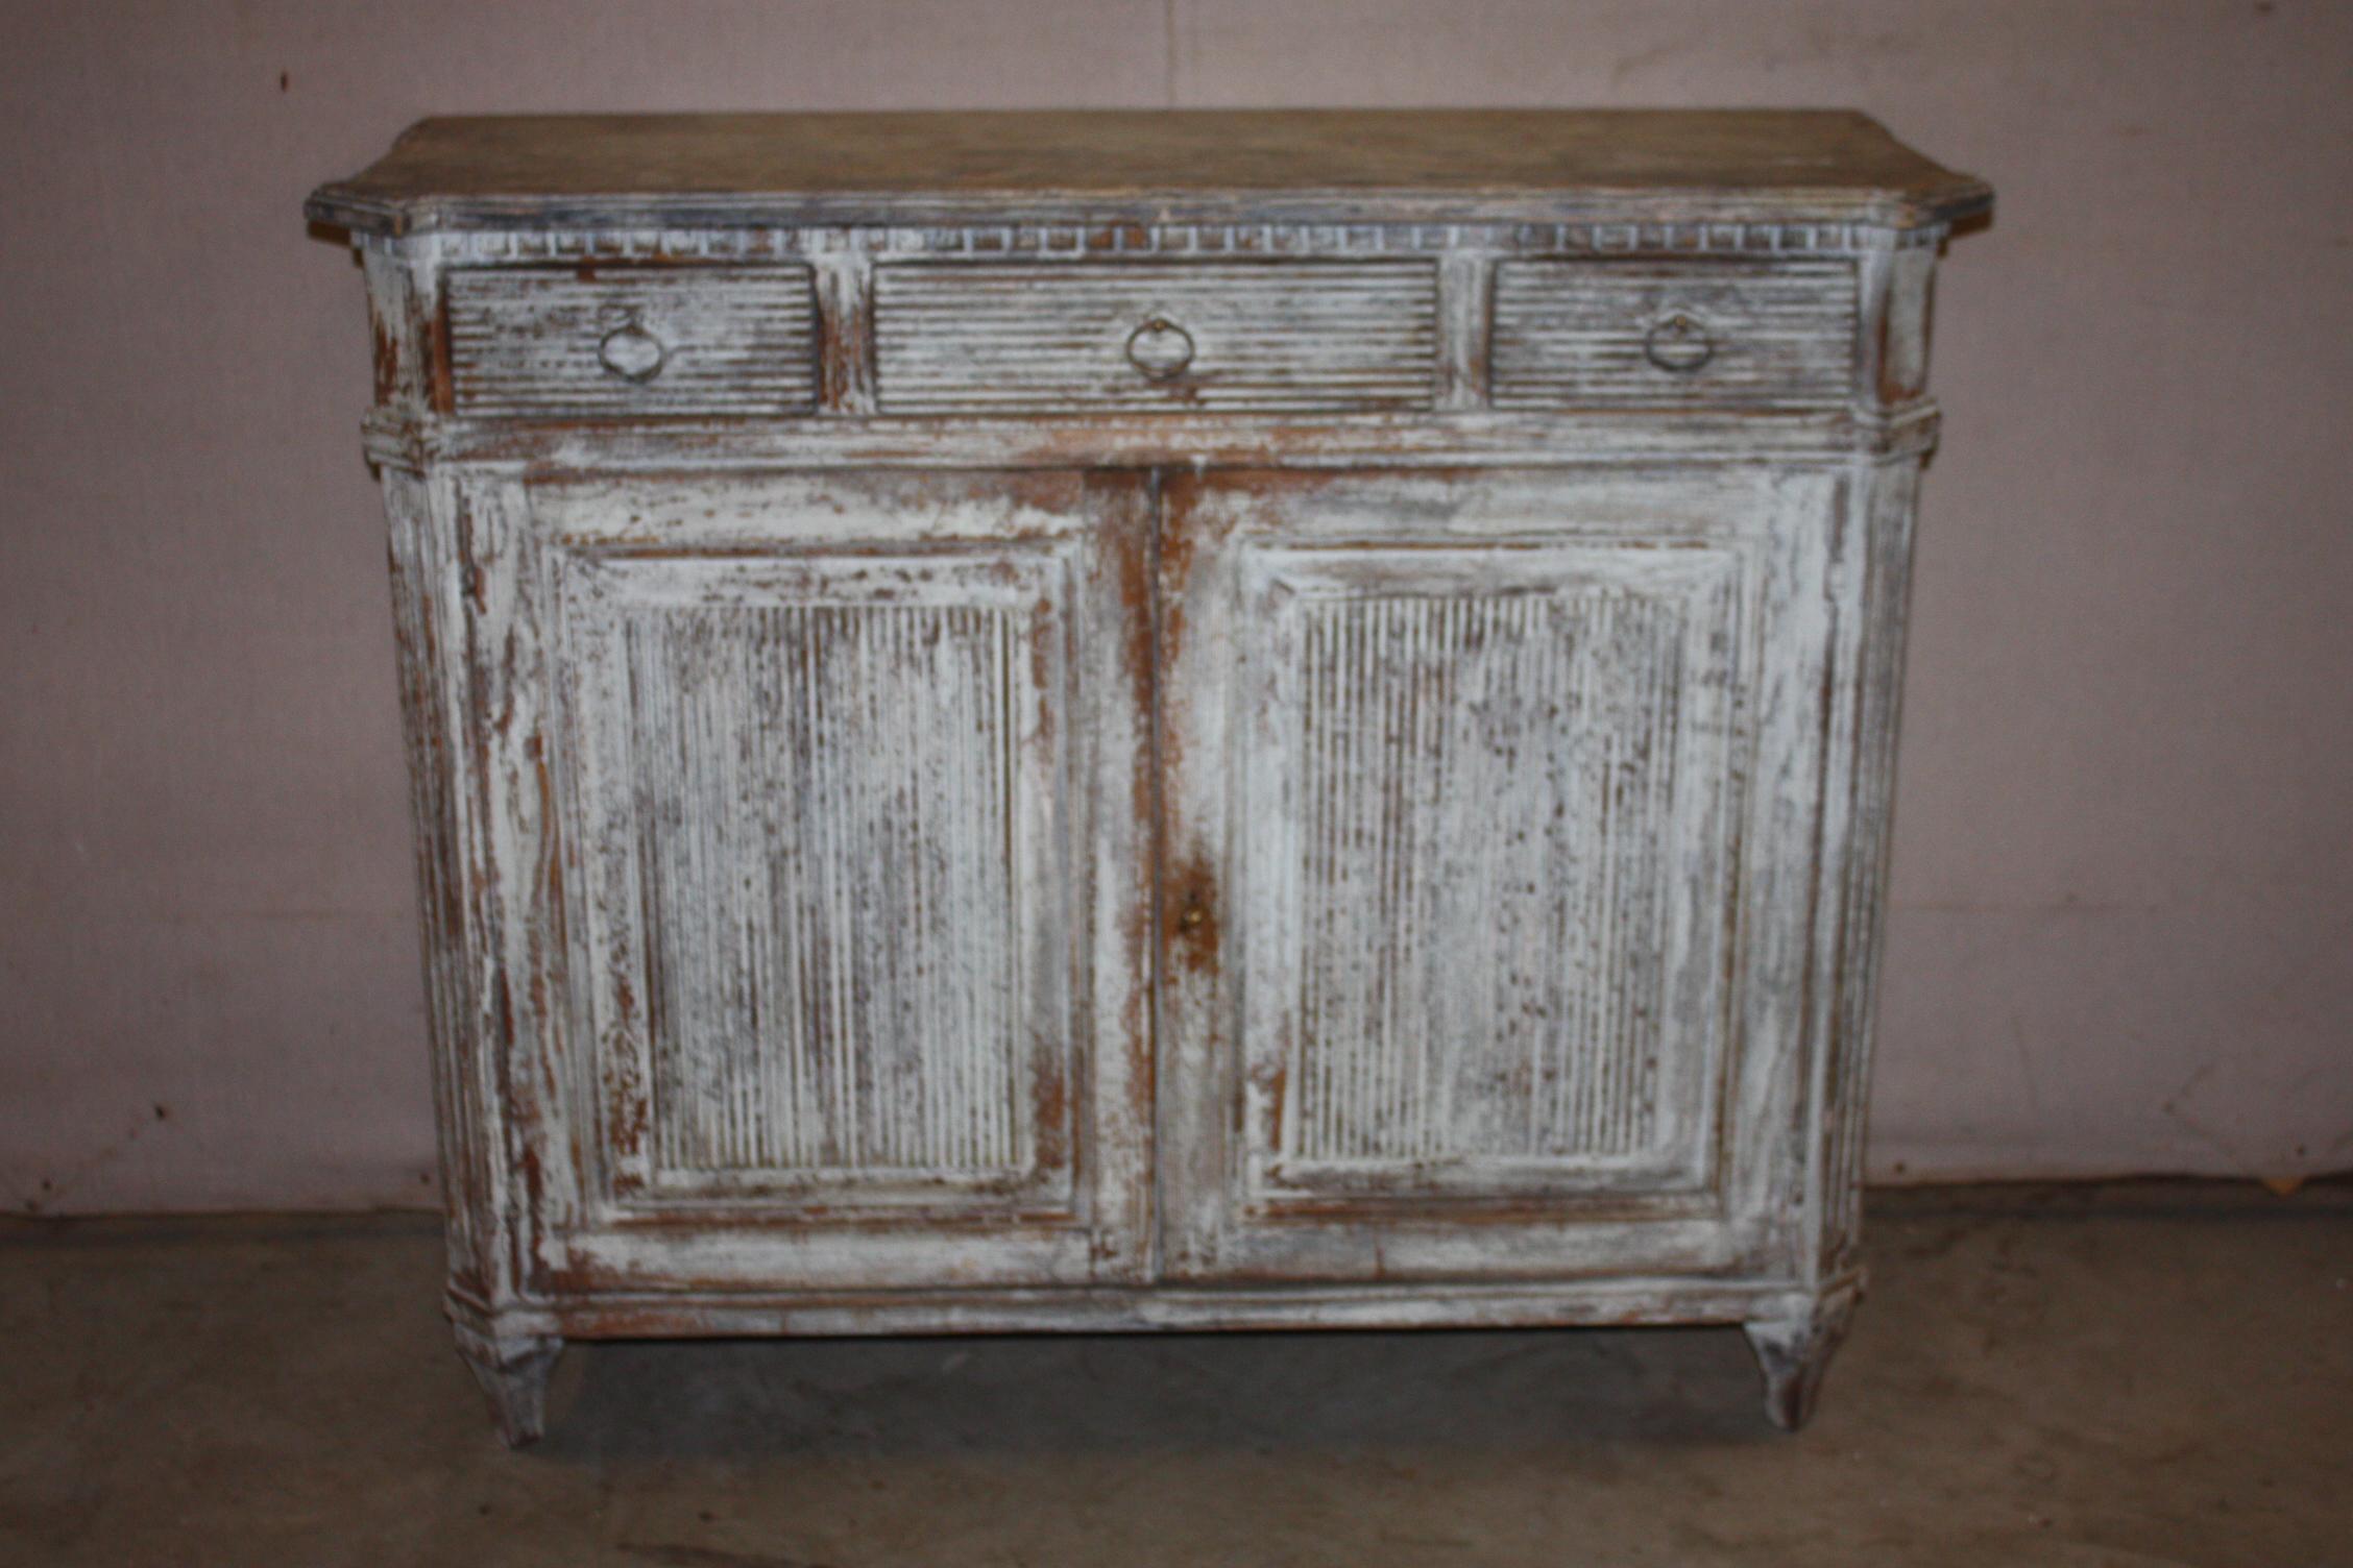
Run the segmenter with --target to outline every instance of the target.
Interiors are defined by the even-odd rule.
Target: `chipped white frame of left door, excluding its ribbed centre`
[[[475,475],[501,548],[473,656],[511,670],[482,726],[527,780],[496,879],[527,933],[508,976],[506,1138],[520,1286],[791,1293],[1134,1284],[1151,1253],[1144,922],[1151,548],[1144,475]],[[468,489],[461,484],[461,491]],[[475,508],[478,512],[485,508]],[[654,1159],[642,1018],[647,837],[609,776],[628,670],[614,611],[965,607],[1002,644],[1009,877],[1033,1135],[1000,1171],[692,1171]],[[642,675],[642,672],[640,672]],[[741,875],[741,867],[736,870]],[[1026,882],[1024,882],[1026,875]],[[953,1046],[939,1041],[953,1053]],[[1016,1140],[1019,1143],[1019,1140]],[[840,1178],[840,1180],[835,1180]]]

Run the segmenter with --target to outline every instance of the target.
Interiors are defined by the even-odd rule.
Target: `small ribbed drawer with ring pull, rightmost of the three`
[[[1494,402],[1845,402],[1845,261],[1504,261]]]

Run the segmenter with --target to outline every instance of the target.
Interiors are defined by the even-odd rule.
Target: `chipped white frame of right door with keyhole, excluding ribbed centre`
[[[1824,980],[1817,851],[1838,745],[1835,602],[1852,592],[1840,564],[1847,496],[1838,468],[1762,465],[1169,477],[1160,1213],[1172,1279],[1805,1272]],[[1671,1020],[1722,1034],[1685,1053],[1708,1081],[1687,1088],[1689,1138],[1666,1140],[1671,1157],[1522,1173],[1447,1173],[1438,1161],[1419,1182],[1407,1173],[1355,1192],[1285,1180],[1273,1154],[1287,1147],[1280,1107],[1297,1095],[1278,1030],[1292,1001],[1266,990],[1289,983],[1271,954],[1297,950],[1299,933],[1280,924],[1297,870],[1264,863],[1289,766],[1268,752],[1292,724],[1268,590],[1304,562],[1358,583],[1388,571],[1424,592],[1449,576],[1506,588],[1515,574],[1525,585],[1595,571],[1664,574],[1680,583],[1673,595],[1732,585],[1725,614],[1697,618],[1737,639],[1722,651],[1737,675],[1711,719],[1727,752],[1722,820],[1687,846],[1718,844],[1722,865],[1694,867],[1678,905],[1682,957],[1715,940],[1711,924],[1720,945],[1713,976],[1678,980],[1701,1016]]]

